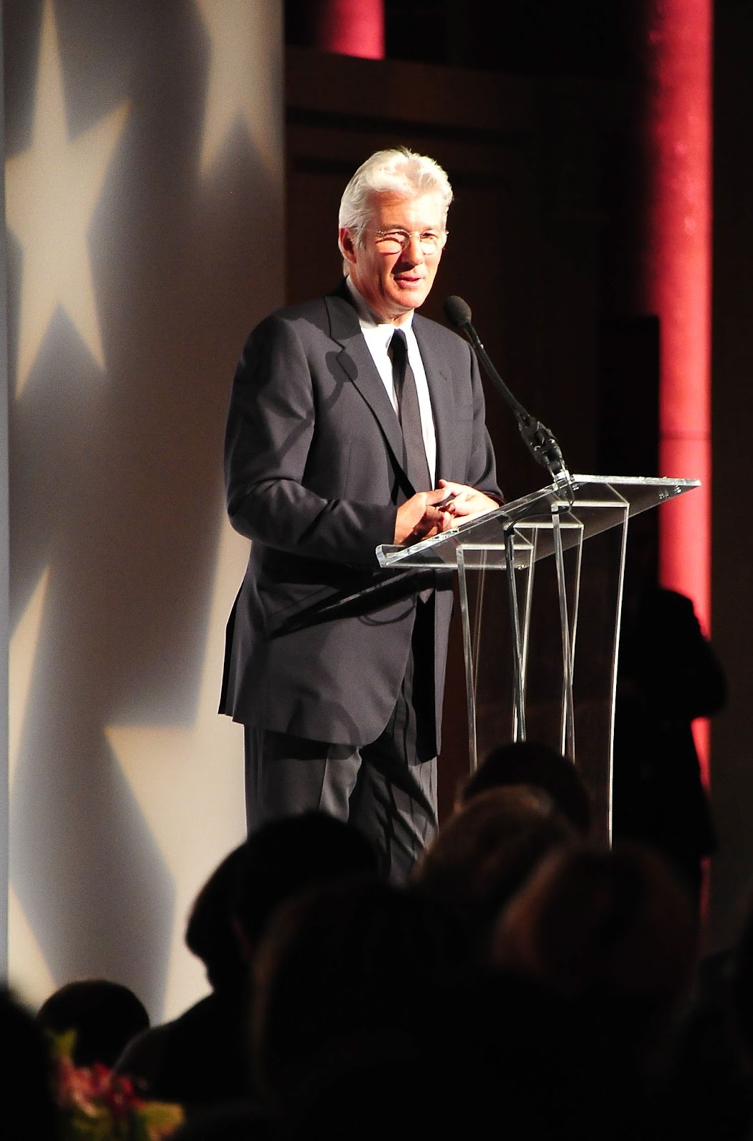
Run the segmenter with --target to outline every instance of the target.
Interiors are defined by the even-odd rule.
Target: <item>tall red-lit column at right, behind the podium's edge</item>
[[[659,511],[659,577],[711,631],[713,0],[643,0],[639,294],[659,318],[659,474],[701,488]],[[697,734],[704,763],[707,726]]]

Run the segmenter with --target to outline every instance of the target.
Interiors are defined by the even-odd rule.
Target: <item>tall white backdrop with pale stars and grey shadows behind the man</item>
[[[3,64],[8,977],[156,1021],[208,989],[185,921],[244,835],[221,451],[283,299],[281,0],[6,0]]]

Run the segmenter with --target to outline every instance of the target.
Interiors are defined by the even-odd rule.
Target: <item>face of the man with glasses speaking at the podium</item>
[[[353,284],[375,313],[396,324],[429,296],[445,237],[438,194],[418,199],[375,194],[361,243],[351,230],[340,230]]]

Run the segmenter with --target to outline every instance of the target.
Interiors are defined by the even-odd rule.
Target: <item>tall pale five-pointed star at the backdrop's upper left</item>
[[[127,118],[123,103],[76,138],[68,137],[57,30],[51,0],[46,0],[33,141],[6,161],[6,216],[23,248],[16,396],[58,306],[105,367],[88,232]]]

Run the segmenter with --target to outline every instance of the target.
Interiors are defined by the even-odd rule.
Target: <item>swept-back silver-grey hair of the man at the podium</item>
[[[363,232],[372,216],[374,194],[397,194],[414,199],[423,194],[438,194],[442,201],[442,225],[447,224],[452,202],[452,186],[438,162],[407,147],[376,151],[358,167],[340,200],[338,226],[355,234],[361,243]],[[340,245],[340,251],[342,246]],[[347,262],[346,262],[347,265]]]

